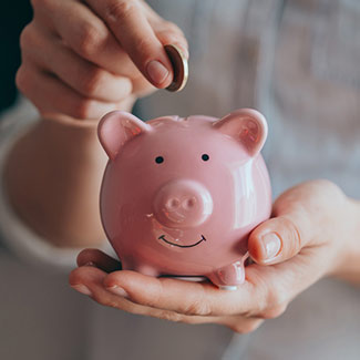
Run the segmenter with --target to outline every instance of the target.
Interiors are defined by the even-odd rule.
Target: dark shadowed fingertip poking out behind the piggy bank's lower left
[[[92,265],[103,271],[121,270],[121,263],[99,249],[84,249],[76,258],[78,266]]]

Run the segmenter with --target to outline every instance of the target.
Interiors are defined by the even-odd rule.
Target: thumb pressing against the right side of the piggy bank
[[[263,265],[277,264],[290,259],[305,246],[328,241],[333,236],[333,214],[341,212],[344,204],[343,193],[328,181],[288,189],[275,202],[274,218],[250,234],[251,258]]]

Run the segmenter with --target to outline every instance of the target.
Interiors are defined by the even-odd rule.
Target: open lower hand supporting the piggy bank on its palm
[[[121,270],[95,249],[83,250],[70,285],[99,304],[187,323],[213,322],[237,332],[280,316],[289,302],[323,276],[340,274],[352,247],[354,212],[332,183],[315,181],[284,193],[272,216],[249,236],[255,261],[236,291],[208,281],[154,278]]]

